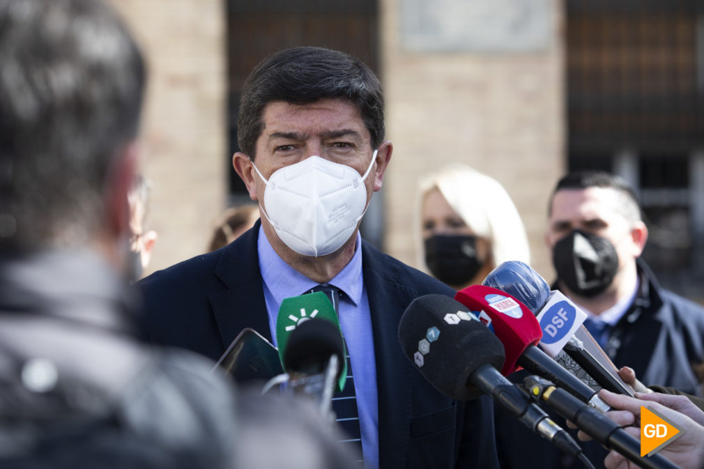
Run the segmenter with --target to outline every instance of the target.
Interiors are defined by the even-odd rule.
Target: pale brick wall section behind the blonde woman
[[[560,2],[551,2],[555,20],[545,50],[480,54],[404,49],[399,1],[382,1],[382,80],[387,137],[394,142],[382,189],[386,250],[416,264],[417,181],[462,161],[507,189],[526,225],[532,264],[551,280],[543,243],[546,204],[565,168]]]

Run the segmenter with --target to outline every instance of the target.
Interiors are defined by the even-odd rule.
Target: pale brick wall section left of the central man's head
[[[147,272],[202,253],[226,197],[225,3],[113,0],[149,64],[143,172],[147,225],[159,238]]]

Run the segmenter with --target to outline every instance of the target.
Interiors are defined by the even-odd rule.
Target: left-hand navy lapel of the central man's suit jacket
[[[215,266],[214,274],[227,290],[211,294],[209,299],[225,349],[246,327],[253,328],[271,342],[257,254],[259,225],[258,221],[251,230],[227,246]]]

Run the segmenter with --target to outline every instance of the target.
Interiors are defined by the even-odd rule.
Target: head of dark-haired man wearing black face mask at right
[[[630,294],[647,239],[636,194],[622,177],[582,171],[558,181],[548,205],[546,243],[560,289],[570,296]]]

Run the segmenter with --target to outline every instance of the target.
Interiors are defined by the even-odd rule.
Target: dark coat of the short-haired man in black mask
[[[674,387],[701,396],[693,368],[704,360],[704,308],[660,287],[646,263],[638,261],[639,292],[627,313],[613,327],[604,347],[617,368],[629,366],[646,384]],[[517,372],[512,380],[520,380]],[[552,414],[558,424],[564,419]],[[503,468],[583,468],[579,461],[545,447],[534,434],[497,408],[496,431]],[[572,432],[576,435],[576,431]],[[586,456],[603,468],[607,451],[596,442],[580,442]]]

